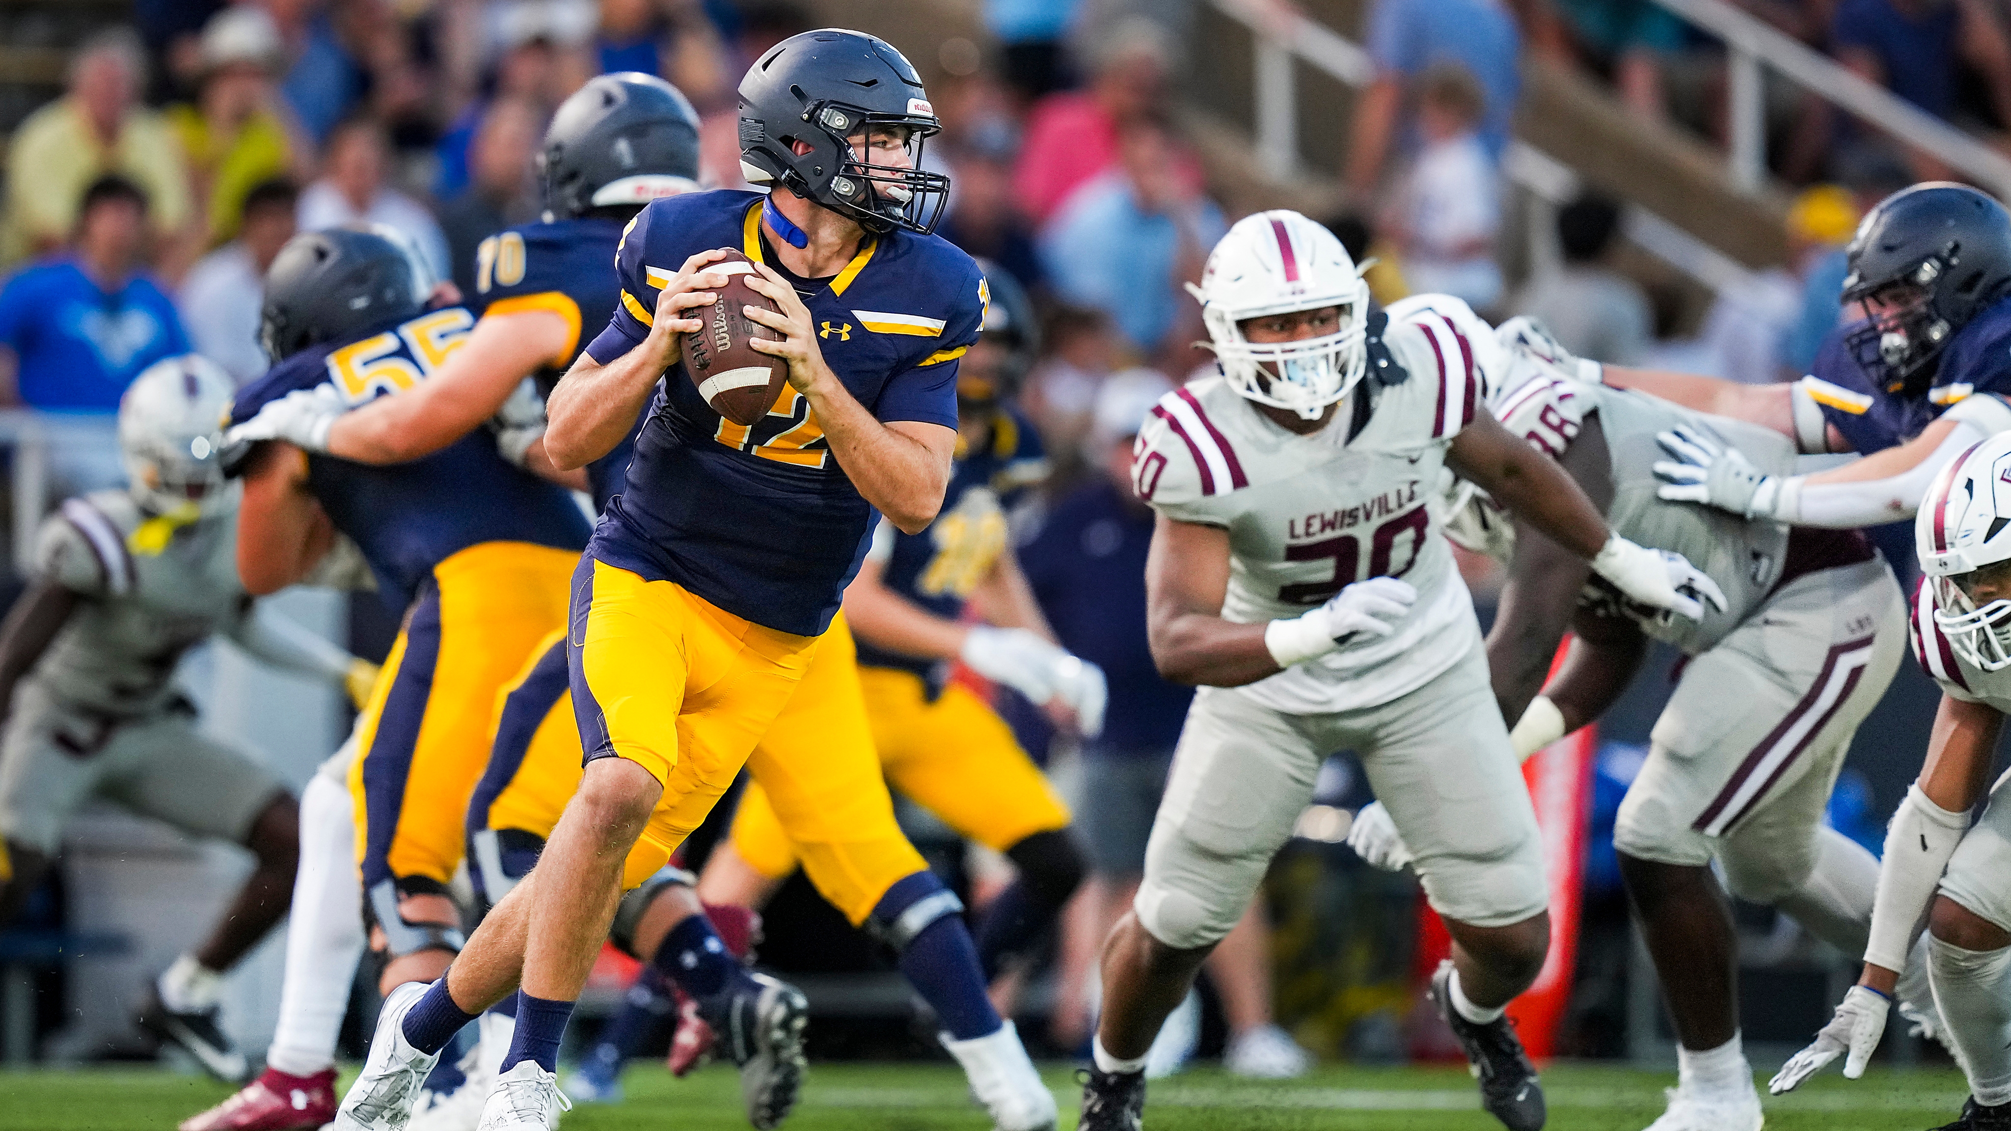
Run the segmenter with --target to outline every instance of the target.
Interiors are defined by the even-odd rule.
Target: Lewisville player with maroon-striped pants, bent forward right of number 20
[[[1432,302],[1404,300],[1390,314]],[[1534,332],[1520,322],[1500,336]],[[1685,429],[1729,443],[1778,475],[1794,461],[1778,433],[1565,380],[1514,354],[1488,409],[1603,503],[1615,531],[1701,563],[1725,594],[1725,608],[1703,620],[1661,616],[1609,588],[1587,590],[1581,561],[1542,535],[1524,537],[1470,483],[1448,505],[1446,533],[1508,566],[1488,668],[1502,718],[1518,718],[1508,733],[1518,759],[1599,718],[1633,680],[1647,640],[1689,656],[1613,833],[1679,1040],[1679,1083],[1649,1131],[1758,1131],[1760,1095],[1738,1028],[1738,938],[1709,867],[1717,861],[1740,898],[1862,954],[1878,861],[1822,817],[1850,739],[1904,650],[1898,582],[1858,531],[1657,499],[1655,435]],[[1567,628],[1571,656],[1536,694]],[[1740,710],[1725,710],[1729,700]],[[1357,815],[1349,843],[1380,867],[1408,863],[1380,803]],[[1904,990],[1902,1000],[1931,1008],[1925,970]]]

